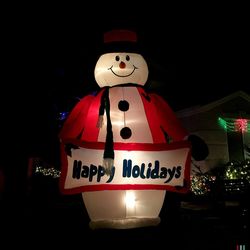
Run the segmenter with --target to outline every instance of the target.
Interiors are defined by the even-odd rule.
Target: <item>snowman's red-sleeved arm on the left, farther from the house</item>
[[[71,110],[59,133],[61,140],[76,139],[84,129],[89,107],[94,96],[83,97]]]

